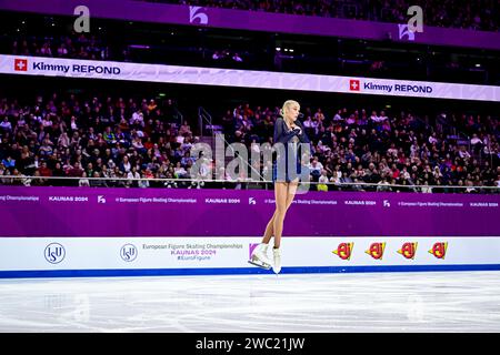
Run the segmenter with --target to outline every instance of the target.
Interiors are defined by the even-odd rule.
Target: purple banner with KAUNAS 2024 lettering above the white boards
[[[284,236],[500,236],[500,195],[308,192]],[[0,186],[0,236],[256,236],[273,191]]]

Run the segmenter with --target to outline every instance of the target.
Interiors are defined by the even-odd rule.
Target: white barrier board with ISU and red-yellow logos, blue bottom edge
[[[254,237],[3,237],[0,277],[272,274],[249,267],[256,242]],[[293,237],[282,243],[287,274],[500,270],[496,236]]]

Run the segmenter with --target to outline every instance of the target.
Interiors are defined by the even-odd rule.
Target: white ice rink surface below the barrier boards
[[[500,272],[0,280],[0,332],[500,332]]]

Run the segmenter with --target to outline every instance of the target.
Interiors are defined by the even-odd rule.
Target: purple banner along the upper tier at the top
[[[130,0],[0,0],[0,10],[60,16],[74,16],[74,9],[78,6],[87,6],[91,18],[364,40],[387,40],[390,36],[396,42],[500,49],[500,32],[424,27],[422,33],[411,33],[403,23],[200,8]],[[423,21],[426,22],[426,19]]]

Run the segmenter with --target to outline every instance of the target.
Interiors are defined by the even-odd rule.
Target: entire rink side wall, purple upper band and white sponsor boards
[[[500,195],[313,192],[282,273],[500,270]],[[0,186],[0,277],[272,273],[248,264],[272,191]]]

